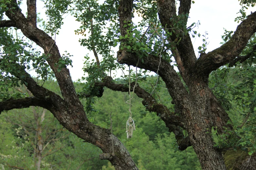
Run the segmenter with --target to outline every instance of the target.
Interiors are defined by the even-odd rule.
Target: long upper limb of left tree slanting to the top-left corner
[[[6,11],[7,17],[14,21],[17,28],[19,28],[22,33],[29,38],[31,41],[34,41],[37,45],[43,48],[45,54],[49,54],[49,57],[47,58],[47,62],[50,65],[51,69],[53,70],[55,77],[57,78],[57,81],[60,86],[61,94],[64,100],[66,101],[67,105],[70,105],[71,107],[76,106],[77,109],[79,108],[80,112],[84,112],[84,109],[81,105],[81,102],[79,101],[79,98],[77,97],[77,93],[75,91],[75,87],[73,84],[73,81],[70,77],[69,69],[66,67],[62,68],[61,71],[58,71],[58,65],[56,63],[59,63],[59,60],[61,59],[61,55],[59,52],[59,49],[55,43],[55,41],[50,37],[48,34],[43,32],[42,30],[30,26],[30,22],[28,19],[25,18],[25,16],[21,13],[19,7],[16,5],[17,1],[12,0],[11,4],[8,5],[9,9],[12,8],[12,6],[15,6],[16,9],[11,11]],[[29,89],[33,95],[34,92]],[[36,95],[35,95],[36,96]]]

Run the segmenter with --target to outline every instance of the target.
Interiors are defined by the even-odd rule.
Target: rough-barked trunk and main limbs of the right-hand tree
[[[157,5],[162,25],[165,28],[171,28],[172,22],[170,18],[176,15],[175,1],[159,0]],[[189,13],[190,6],[191,1],[180,1],[179,14],[183,12]],[[219,52],[226,51],[226,56],[221,59],[214,60],[212,54],[215,55],[216,53],[210,52],[201,55],[197,60],[190,36],[187,35],[182,38],[172,53],[175,54],[176,63],[182,78],[189,87],[189,93],[184,89],[178,75],[169,63],[163,61],[159,70],[157,70],[159,60],[154,56],[148,55],[148,57],[143,58],[144,62],[139,62],[139,68],[154,72],[158,71],[165,82],[174,103],[181,111],[190,142],[198,156],[202,169],[226,169],[222,153],[213,147],[211,129],[213,126],[217,126],[218,130],[222,132],[223,126],[227,126],[226,123],[229,117],[208,87],[209,73],[232,61],[241,53],[251,35],[256,31],[255,13],[248,16],[247,20],[238,26],[230,41],[219,48],[223,50],[216,49]],[[121,21],[122,18],[120,16]],[[120,30],[121,35],[124,36],[125,34],[122,34],[124,28],[120,26]],[[169,42],[174,41],[175,38],[176,35],[172,35]],[[126,50],[119,50],[117,58],[120,64],[135,66],[138,56]]]

